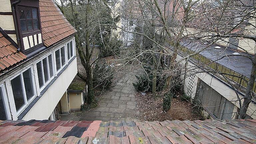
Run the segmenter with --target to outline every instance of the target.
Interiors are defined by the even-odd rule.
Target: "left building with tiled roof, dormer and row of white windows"
[[[58,119],[77,73],[76,30],[52,0],[0,3],[0,119]]]

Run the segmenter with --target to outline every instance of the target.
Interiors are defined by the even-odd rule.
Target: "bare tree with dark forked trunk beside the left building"
[[[93,59],[96,45],[109,45],[112,26],[102,26],[113,21],[108,6],[110,1],[68,0],[63,8],[64,14],[78,31],[75,35],[76,46],[85,69],[86,77],[78,73],[87,84],[87,103],[95,101],[93,85],[93,67],[98,58]],[[111,75],[111,74],[110,74]]]

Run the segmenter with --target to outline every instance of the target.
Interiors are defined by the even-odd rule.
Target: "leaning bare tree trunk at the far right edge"
[[[248,106],[252,101],[252,98],[254,95],[253,86],[255,82],[255,76],[256,76],[256,55],[254,55],[254,61],[252,62],[252,71],[250,74],[248,85],[246,87],[244,102],[243,102],[242,108],[239,111],[240,119],[246,118],[246,112],[248,110]]]

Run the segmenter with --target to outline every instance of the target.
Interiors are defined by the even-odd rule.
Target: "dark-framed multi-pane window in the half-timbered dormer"
[[[19,6],[18,9],[21,31],[39,30],[37,8]]]

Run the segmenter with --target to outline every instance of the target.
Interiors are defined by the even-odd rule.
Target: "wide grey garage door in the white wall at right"
[[[197,99],[218,119],[232,119],[234,104],[200,80]]]

